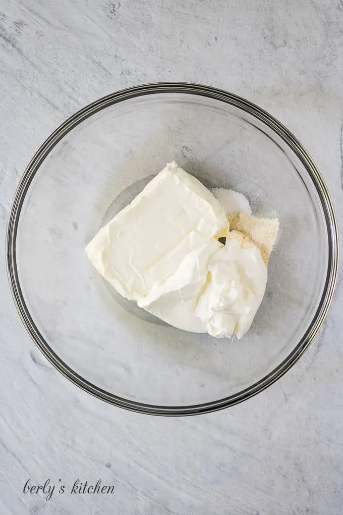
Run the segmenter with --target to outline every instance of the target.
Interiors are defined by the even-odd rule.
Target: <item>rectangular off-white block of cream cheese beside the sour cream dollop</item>
[[[220,202],[173,161],[86,247],[98,272],[139,302],[228,227]]]

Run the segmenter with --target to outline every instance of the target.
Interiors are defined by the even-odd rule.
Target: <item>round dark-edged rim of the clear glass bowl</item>
[[[189,406],[152,405],[125,399],[95,386],[91,382],[85,380],[84,377],[76,373],[73,369],[71,369],[55,352],[53,352],[48,341],[45,340],[35,325],[22,293],[16,263],[16,236],[20,221],[21,209],[25,200],[26,193],[29,190],[33,177],[38,172],[41,164],[51,152],[51,150],[56,146],[56,144],[62,138],[64,138],[64,136],[71,129],[81,124],[83,121],[85,121],[86,118],[101,111],[102,109],[105,109],[106,107],[110,107],[114,104],[117,104],[118,102],[129,100],[135,97],[163,93],[185,93],[219,100],[225,104],[230,104],[231,106],[245,111],[272,129],[273,132],[275,132],[287,144],[287,146],[293,150],[312,179],[321,202],[328,231],[329,259],[326,282],[317,311],[314,314],[309,327],[305,330],[304,335],[296,347],[277,367],[275,367],[271,372],[262,377],[262,379],[250,385],[249,387],[244,388],[243,390],[234,393],[229,397]],[[62,123],[62,125],[60,125],[54,132],[52,132],[52,134],[50,134],[50,136],[41,145],[41,147],[37,150],[29,162],[19,182],[19,185],[16,188],[7,224],[6,264],[12,297],[27,332],[31,336],[34,343],[38,346],[40,351],[48,359],[48,361],[65,377],[67,377],[67,379],[86,392],[91,393],[98,399],[121,408],[137,411],[139,413],[168,416],[198,415],[227,408],[229,406],[243,402],[252,396],[255,396],[257,393],[261,392],[268,386],[272,385],[275,381],[277,381],[298,361],[305,350],[308,349],[314,337],[318,333],[332,301],[338,273],[338,229],[333,204],[319,169],[317,168],[309,153],[295,138],[292,132],[284,127],[276,118],[252,102],[224,90],[202,84],[186,82],[157,82],[137,85],[132,88],[120,90],[115,93],[106,95],[71,115],[64,123]]]

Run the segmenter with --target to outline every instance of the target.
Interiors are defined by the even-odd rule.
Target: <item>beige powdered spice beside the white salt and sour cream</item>
[[[279,220],[277,218],[255,218],[247,213],[232,213],[227,215],[227,219],[230,231],[239,231],[255,243],[267,266],[279,231]]]

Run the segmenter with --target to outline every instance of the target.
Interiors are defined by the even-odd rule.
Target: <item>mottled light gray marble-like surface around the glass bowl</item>
[[[342,0],[0,0],[3,249],[15,186],[46,136],[102,95],[165,80],[220,87],[278,117],[312,153],[343,227]],[[16,314],[4,251],[0,292],[1,515],[343,512],[341,273],[290,372],[239,406],[179,419],[110,407],[53,369]],[[28,478],[50,478],[51,498],[24,494]],[[77,478],[115,493],[71,494]]]

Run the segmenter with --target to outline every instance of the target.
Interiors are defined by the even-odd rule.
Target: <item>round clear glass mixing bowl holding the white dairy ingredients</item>
[[[280,219],[265,297],[240,341],[161,322],[121,298],[84,252],[172,160]],[[183,83],[120,91],[71,116],[27,167],[7,234],[14,300],[49,361],[104,401],[160,415],[231,406],[289,369],[327,313],[337,248],[329,194],[296,138],[242,98]]]

